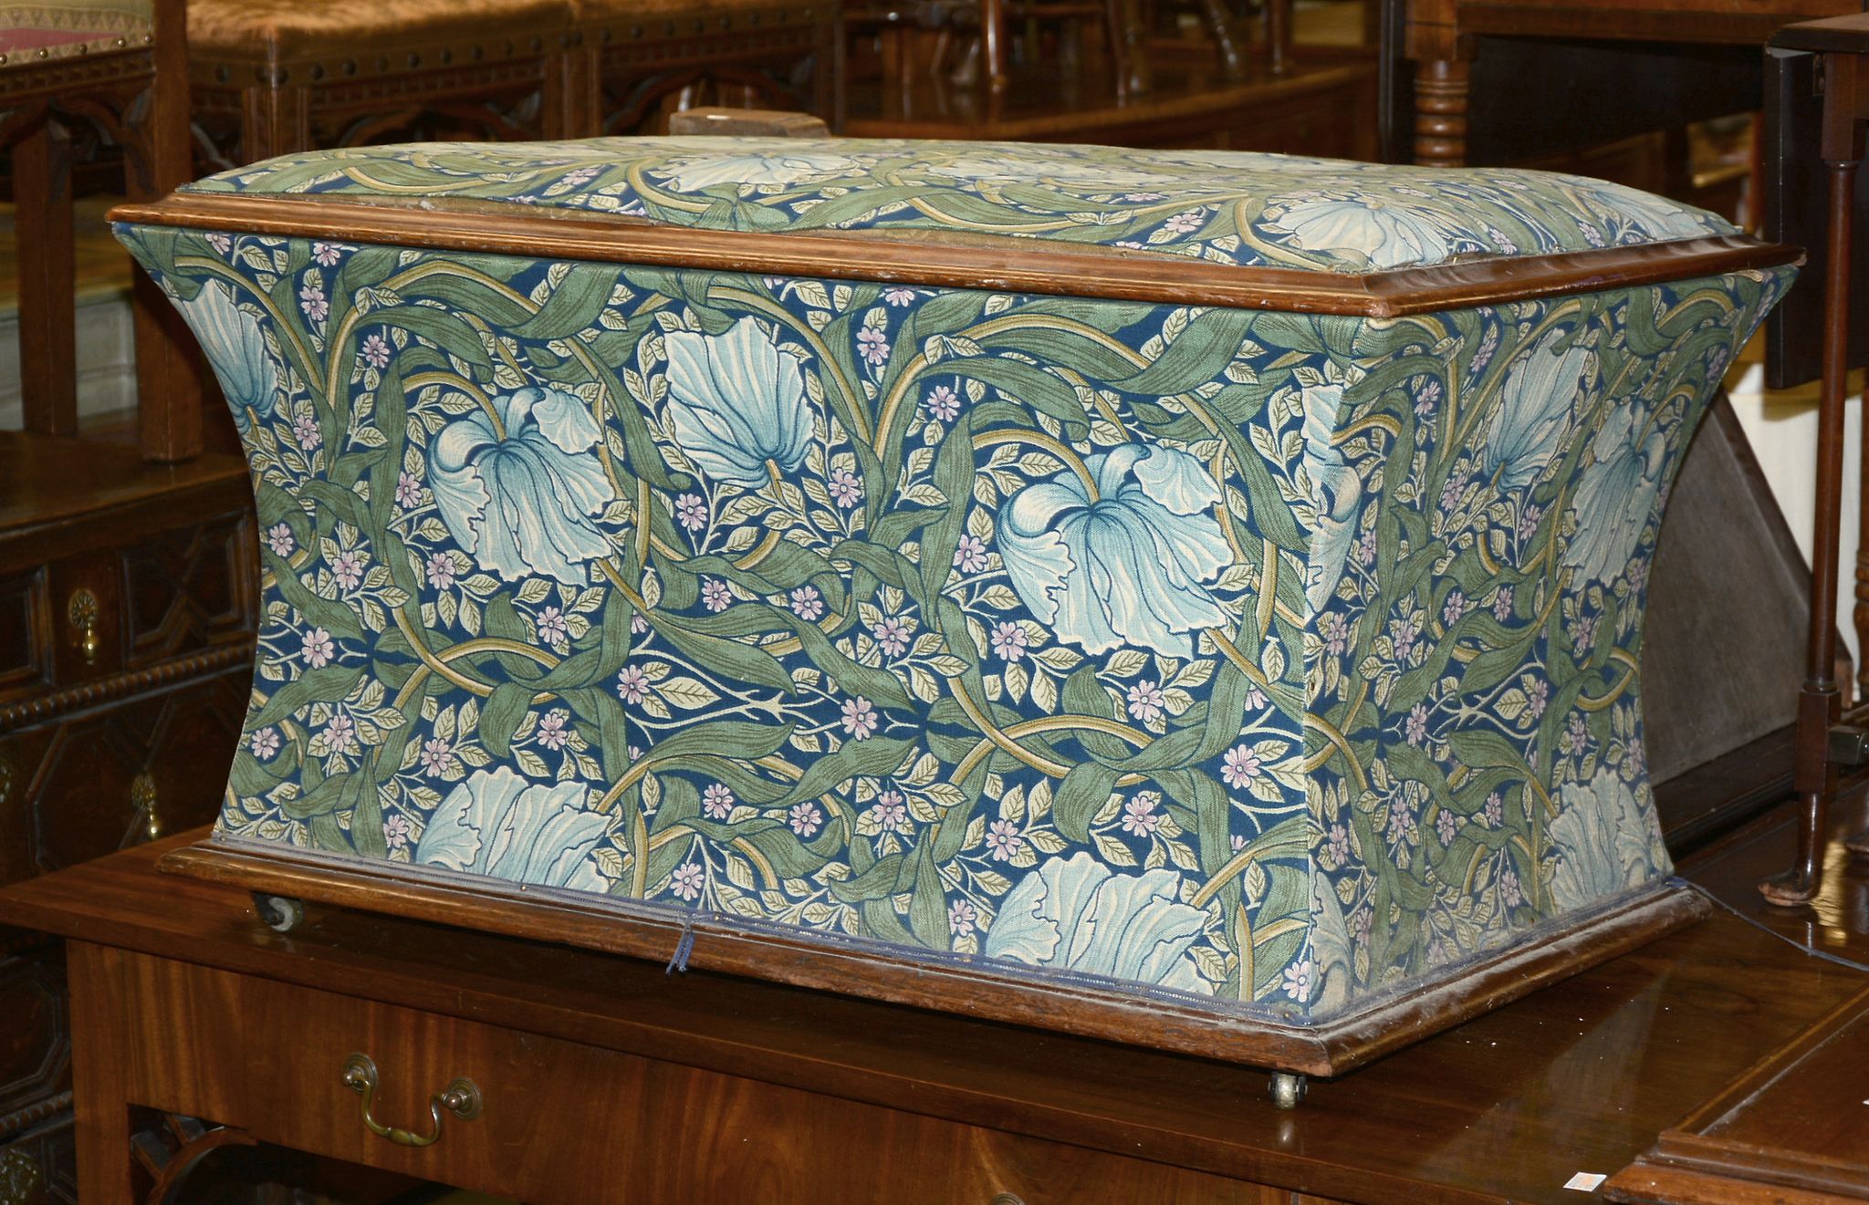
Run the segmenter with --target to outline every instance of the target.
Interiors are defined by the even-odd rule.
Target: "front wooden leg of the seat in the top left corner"
[[[19,359],[26,430],[78,433],[71,135],[47,114],[13,149]]]

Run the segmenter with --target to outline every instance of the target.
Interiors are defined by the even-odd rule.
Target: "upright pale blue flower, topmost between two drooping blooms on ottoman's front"
[[[751,318],[725,334],[675,331],[665,413],[675,443],[716,482],[761,486],[770,469],[791,473],[811,450],[811,405],[798,361]]]

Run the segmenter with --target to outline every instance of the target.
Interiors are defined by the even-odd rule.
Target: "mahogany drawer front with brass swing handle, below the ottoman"
[[[112,1001],[133,1102],[280,1145],[533,1205],[892,1201],[1166,1205],[1288,1201],[1258,1184],[1017,1138],[350,996],[80,945],[75,990]],[[191,1035],[191,1041],[178,1041]],[[372,1110],[426,1132],[428,1099],[473,1080],[480,1115],[428,1147],[363,1121],[346,1059],[379,1069]],[[1004,1198],[1002,1198],[1002,1205]]]

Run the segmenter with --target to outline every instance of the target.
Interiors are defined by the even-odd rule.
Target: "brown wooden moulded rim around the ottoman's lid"
[[[153,204],[118,206],[110,211],[110,220],[426,250],[1377,319],[1804,262],[1802,248],[1783,243],[1710,235],[1353,275],[1239,267],[1112,247],[940,232],[884,235],[693,230],[613,213],[551,211],[450,196],[170,192]]]

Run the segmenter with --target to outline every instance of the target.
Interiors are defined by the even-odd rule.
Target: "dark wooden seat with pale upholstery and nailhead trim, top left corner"
[[[0,146],[13,166],[24,426],[75,435],[73,133],[121,148],[125,192],[155,198],[189,177],[181,0],[39,0],[0,6]],[[193,340],[138,271],[140,437],[150,460],[200,450]]]

